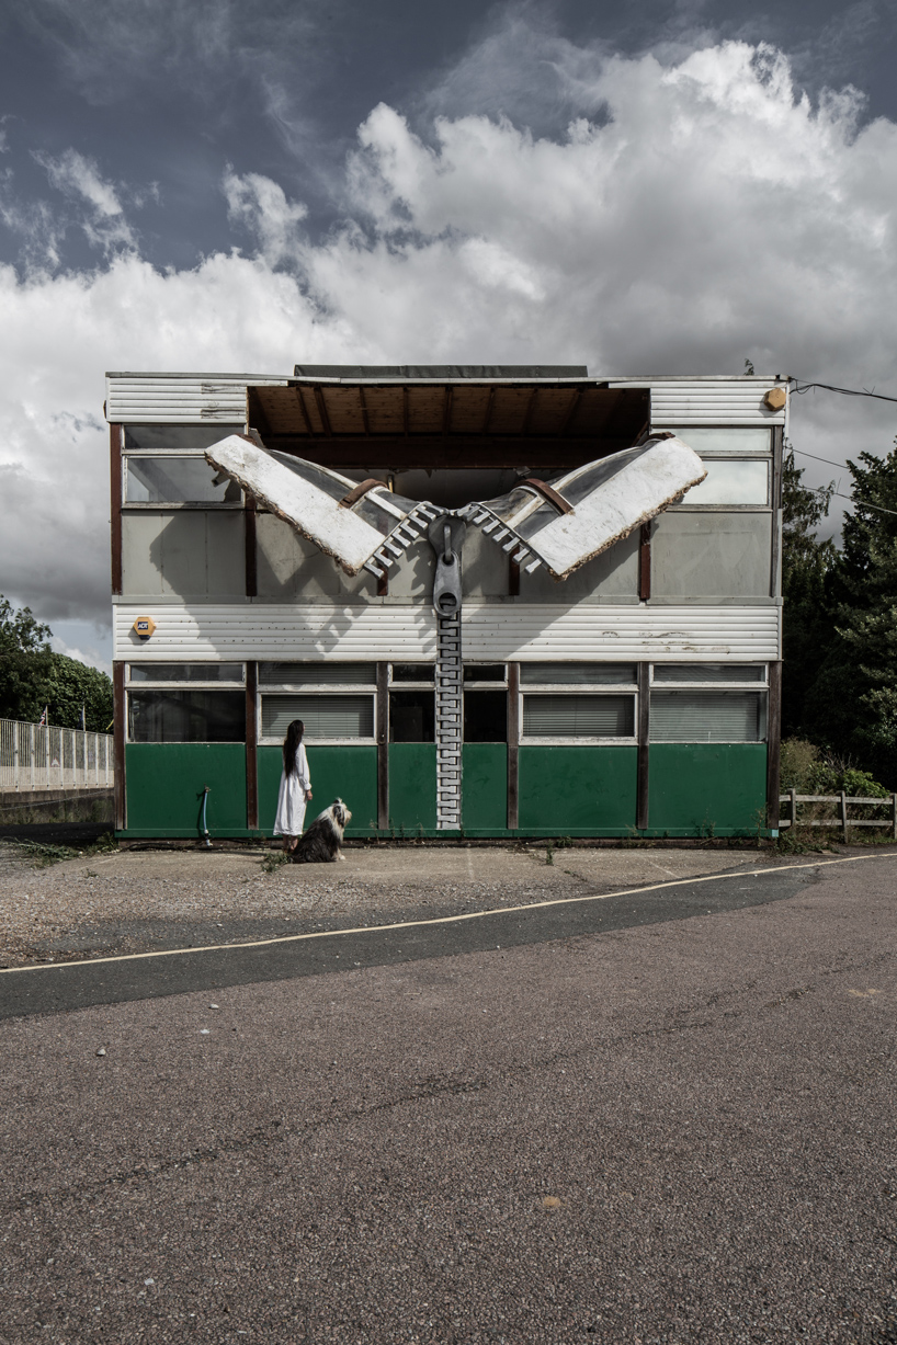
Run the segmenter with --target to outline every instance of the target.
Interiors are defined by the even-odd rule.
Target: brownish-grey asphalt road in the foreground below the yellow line
[[[38,991],[54,1011],[0,1025],[0,1341],[897,1341],[896,877],[192,951],[194,976],[257,959],[214,993]]]

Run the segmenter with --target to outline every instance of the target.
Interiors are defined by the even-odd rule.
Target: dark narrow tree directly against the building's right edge
[[[783,736],[803,728],[808,687],[834,629],[826,605],[826,576],[836,561],[831,539],[816,537],[828,512],[834,483],[822,491],[802,484],[803,469],[788,448],[781,464],[781,594],[784,601],[781,728]]]

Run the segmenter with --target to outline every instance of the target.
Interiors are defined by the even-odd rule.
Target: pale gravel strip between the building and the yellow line
[[[260,853],[120,851],[36,869],[0,843],[0,966],[385,924],[779,862],[742,850],[352,849],[336,865]]]

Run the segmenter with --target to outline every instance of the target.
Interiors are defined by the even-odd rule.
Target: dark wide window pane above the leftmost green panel
[[[128,737],[132,742],[245,742],[246,695],[243,691],[129,691]]]

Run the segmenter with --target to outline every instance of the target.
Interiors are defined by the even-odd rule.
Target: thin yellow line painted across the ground
[[[432,920],[398,920],[387,925],[358,925],[352,929],[315,929],[311,933],[284,933],[274,939],[254,939],[250,943],[208,943],[199,948],[157,948],[152,952],[122,952],[114,958],[85,958],[82,962],[39,962],[31,967],[0,967],[0,976],[15,976],[28,971],[65,971],[69,967],[100,967],[109,962],[141,962],[147,958],[182,958],[191,952],[233,952],[239,948],[269,948],[278,943],[307,943],[311,939],[338,939],[350,933],[386,933],[390,929],[422,929],[436,924],[460,924],[463,920],[483,920],[485,916],[507,916],[522,911],[542,911],[547,907],[574,907],[584,901],[608,901],[611,897],[639,897],[646,892],[664,888],[685,888],[695,882],[722,882],[726,878],[760,878],[767,873],[788,873],[795,869],[827,869],[835,863],[858,863],[862,859],[896,859],[889,854],[853,854],[846,859],[819,859],[815,863],[779,863],[775,869],[737,869],[734,873],[707,873],[699,878],[675,878],[655,882],[648,888],[627,888],[623,892],[594,892],[585,897],[553,897],[550,901],[530,901],[522,907],[492,907],[491,911],[465,911],[460,916],[434,916]]]

